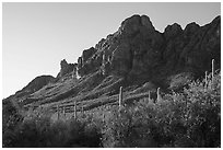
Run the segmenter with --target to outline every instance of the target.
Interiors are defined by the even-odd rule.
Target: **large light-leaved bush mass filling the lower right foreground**
[[[192,82],[157,104],[142,100],[120,112],[110,111],[104,147],[220,147],[220,79],[218,73],[208,89],[204,80]]]

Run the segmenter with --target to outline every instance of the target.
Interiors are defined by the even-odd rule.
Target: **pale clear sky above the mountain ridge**
[[[168,24],[210,23],[220,2],[2,3],[2,96],[8,97],[43,74],[54,77],[60,60],[77,62],[84,49],[115,33],[120,23],[145,14],[164,32]]]

